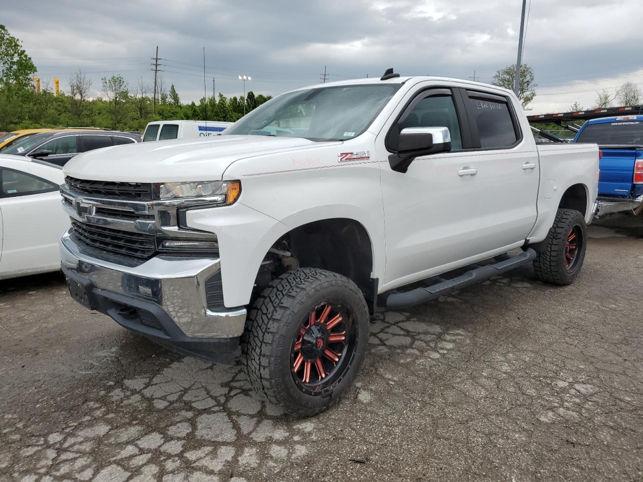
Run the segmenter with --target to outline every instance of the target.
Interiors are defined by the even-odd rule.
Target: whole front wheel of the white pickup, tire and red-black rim
[[[243,342],[253,388],[291,415],[314,415],[352,384],[366,353],[368,308],[349,279],[296,269],[257,299]]]

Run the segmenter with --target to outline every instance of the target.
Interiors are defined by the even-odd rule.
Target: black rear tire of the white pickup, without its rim
[[[568,237],[572,231],[581,239],[574,262],[565,266],[565,253]],[[569,285],[575,280],[583,267],[587,247],[587,226],[583,215],[576,210],[559,209],[554,225],[549,229],[547,238],[538,247],[538,256],[534,260],[536,278],[554,285]]]

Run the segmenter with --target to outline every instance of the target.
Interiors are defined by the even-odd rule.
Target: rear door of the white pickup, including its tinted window
[[[462,96],[478,154],[475,210],[480,226],[475,243],[487,253],[525,240],[534,227],[538,153],[533,136],[523,134],[509,98],[464,89]]]

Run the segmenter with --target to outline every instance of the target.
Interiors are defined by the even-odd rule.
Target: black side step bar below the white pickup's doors
[[[511,258],[502,260],[495,264],[480,266],[471,271],[453,278],[452,280],[440,281],[435,285],[426,288],[416,288],[414,290],[406,291],[403,293],[392,293],[386,298],[386,308],[390,310],[399,310],[402,308],[412,307],[425,301],[438,298],[448,292],[464,288],[473,283],[479,283],[496,274],[509,271],[510,269],[517,268],[523,264],[527,264],[536,259],[536,251],[532,248],[527,248],[527,251],[512,256]]]

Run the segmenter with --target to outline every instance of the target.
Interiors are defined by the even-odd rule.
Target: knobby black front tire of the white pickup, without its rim
[[[354,344],[343,376],[320,393],[295,381],[293,340],[303,319],[323,303],[341,302],[352,314]],[[368,307],[353,281],[322,269],[294,269],[273,280],[251,308],[242,336],[242,364],[253,388],[294,416],[311,416],[338,402],[356,377],[368,343]],[[342,359],[343,360],[343,359]],[[339,362],[338,362],[339,363]]]

